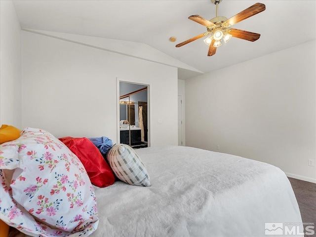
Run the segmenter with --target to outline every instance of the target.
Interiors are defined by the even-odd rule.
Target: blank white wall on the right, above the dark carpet
[[[186,144],[316,183],[315,65],[312,41],[186,80]]]

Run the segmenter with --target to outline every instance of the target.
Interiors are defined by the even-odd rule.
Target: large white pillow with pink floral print
[[[1,220],[24,234],[88,236],[96,230],[89,177],[78,157],[50,133],[26,128],[17,140],[1,144],[0,179]]]

